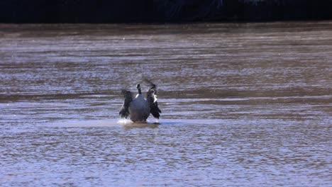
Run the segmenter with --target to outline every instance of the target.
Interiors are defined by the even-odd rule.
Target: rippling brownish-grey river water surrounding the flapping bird
[[[331,91],[332,22],[2,24],[0,183],[332,186]]]

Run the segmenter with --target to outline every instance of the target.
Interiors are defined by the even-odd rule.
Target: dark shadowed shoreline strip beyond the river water
[[[0,23],[323,21],[332,0],[2,0]]]

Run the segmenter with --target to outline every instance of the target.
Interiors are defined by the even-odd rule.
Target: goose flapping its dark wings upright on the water
[[[128,115],[130,115],[133,123],[146,123],[146,119],[151,113],[153,117],[159,119],[161,111],[158,108],[157,96],[155,95],[157,86],[151,82],[150,85],[151,88],[146,94],[146,99],[142,96],[140,84],[136,85],[138,94],[135,98],[133,98],[131,91],[122,91],[124,102],[121,111],[118,113],[121,118],[128,118]]]

